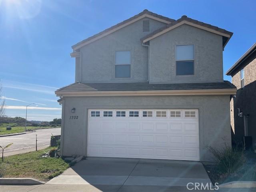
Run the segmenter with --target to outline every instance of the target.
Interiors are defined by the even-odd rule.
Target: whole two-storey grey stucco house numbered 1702
[[[144,10],[74,46],[62,103],[63,156],[212,160],[231,145],[224,29]]]

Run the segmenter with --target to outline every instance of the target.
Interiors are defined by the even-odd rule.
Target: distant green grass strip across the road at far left
[[[6,127],[12,127],[12,130],[6,130]],[[50,129],[50,128],[60,128],[60,127],[35,127],[35,126],[27,126],[27,130],[30,129]],[[11,134],[11,133],[20,133],[25,131],[25,126],[17,126],[16,123],[2,123],[0,124],[0,135]]]

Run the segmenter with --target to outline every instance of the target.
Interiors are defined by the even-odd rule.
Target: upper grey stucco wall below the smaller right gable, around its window
[[[176,46],[194,45],[194,75],[176,76]],[[186,24],[150,40],[150,83],[222,82],[222,36]]]

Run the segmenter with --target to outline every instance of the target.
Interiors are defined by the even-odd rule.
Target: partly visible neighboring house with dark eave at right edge
[[[256,43],[226,72],[232,76],[237,94],[230,102],[231,127],[235,142],[256,146]],[[246,142],[246,140],[245,140]]]

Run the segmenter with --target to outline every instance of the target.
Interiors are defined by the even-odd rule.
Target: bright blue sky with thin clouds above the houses
[[[60,118],[54,90],[74,82],[71,46],[148,9],[182,15],[234,32],[224,72],[256,42],[254,0],[0,0],[0,79],[6,115]],[[224,79],[230,77],[224,75]]]

